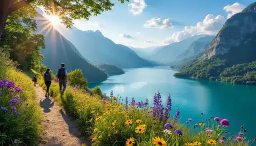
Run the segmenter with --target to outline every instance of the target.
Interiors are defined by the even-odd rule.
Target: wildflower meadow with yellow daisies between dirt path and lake
[[[42,80],[39,83],[45,86]],[[121,104],[118,96],[91,95],[73,87],[68,87],[60,96],[57,83],[53,83],[50,90],[77,119],[81,132],[90,136],[92,145],[249,145],[253,142],[246,140],[243,128],[241,139],[228,137],[225,126],[214,117],[209,117],[206,123],[189,121],[182,125],[178,122],[178,112],[174,116],[167,114],[168,118],[159,118],[161,111],[158,111],[153,117],[156,108],[144,103],[144,106],[135,102]],[[205,119],[203,114],[202,119]]]

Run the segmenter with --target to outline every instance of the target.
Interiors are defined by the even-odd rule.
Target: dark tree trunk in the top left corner
[[[12,0],[0,0],[0,41],[5,30],[5,24],[8,16],[8,10],[12,5]]]

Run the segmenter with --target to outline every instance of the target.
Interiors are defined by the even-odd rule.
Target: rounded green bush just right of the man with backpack
[[[68,73],[68,82],[71,86],[85,89],[87,80],[83,77],[82,70],[76,69]]]

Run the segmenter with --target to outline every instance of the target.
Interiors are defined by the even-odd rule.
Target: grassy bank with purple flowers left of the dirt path
[[[15,91],[6,86],[0,88],[0,145],[38,145],[41,113],[35,89],[31,79],[16,70],[14,65],[8,55],[0,51],[0,80],[6,79],[7,83],[13,81],[15,87],[23,90],[20,92],[17,88]],[[15,98],[18,103],[9,103]],[[11,107],[15,107],[16,111]]]

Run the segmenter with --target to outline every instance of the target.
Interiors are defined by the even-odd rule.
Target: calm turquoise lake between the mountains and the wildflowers
[[[125,74],[109,77],[100,84],[90,84],[90,87],[99,86],[102,92],[114,95],[119,94],[136,102],[147,98],[151,105],[153,96],[158,91],[162,95],[163,104],[166,104],[168,94],[172,96],[171,115],[179,108],[181,122],[193,118],[193,124],[201,121],[201,112],[204,118],[218,116],[230,122],[228,132],[237,136],[240,126],[247,129],[249,138],[256,137],[256,86],[233,85],[230,83],[208,80],[181,79],[173,75],[177,72],[168,67],[126,69]],[[192,127],[193,124],[190,124]]]

